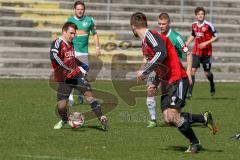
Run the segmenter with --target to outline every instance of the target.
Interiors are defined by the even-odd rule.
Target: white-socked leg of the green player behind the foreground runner
[[[155,72],[150,73],[147,79],[147,99],[146,104],[150,114],[150,121],[148,121],[148,128],[157,127],[156,121],[156,91],[157,87],[153,84],[155,79]]]

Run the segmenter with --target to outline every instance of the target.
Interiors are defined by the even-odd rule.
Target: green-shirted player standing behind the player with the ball
[[[96,31],[95,20],[86,16],[85,4],[81,1],[76,1],[74,3],[75,16],[69,17],[67,22],[75,23],[77,26],[76,36],[73,39],[73,46],[75,50],[75,56],[81,60],[83,63],[88,65],[88,40],[90,32],[93,34],[94,44],[96,47],[96,56],[100,56],[99,38]],[[86,66],[88,69],[88,66]],[[78,96],[80,103],[83,103],[83,97],[80,94]],[[73,106],[73,93],[69,96],[69,105]]]

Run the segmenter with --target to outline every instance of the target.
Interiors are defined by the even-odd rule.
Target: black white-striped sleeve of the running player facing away
[[[147,75],[152,72],[157,66],[167,57],[166,43],[158,35],[152,34],[150,31],[146,33],[146,43],[150,45],[155,52],[154,57],[144,67],[142,74]]]

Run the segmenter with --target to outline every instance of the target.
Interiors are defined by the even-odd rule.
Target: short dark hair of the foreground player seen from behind
[[[130,24],[136,28],[148,27],[147,17],[141,12],[135,12],[131,16]]]

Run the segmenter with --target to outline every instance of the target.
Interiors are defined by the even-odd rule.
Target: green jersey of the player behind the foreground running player
[[[187,52],[189,51],[188,48],[185,45],[185,40],[183,37],[176,31],[172,30],[171,28],[169,29],[168,33],[166,36],[170,39],[172,44],[174,45],[178,58],[182,61],[183,59],[186,58],[186,55],[188,54]]]

